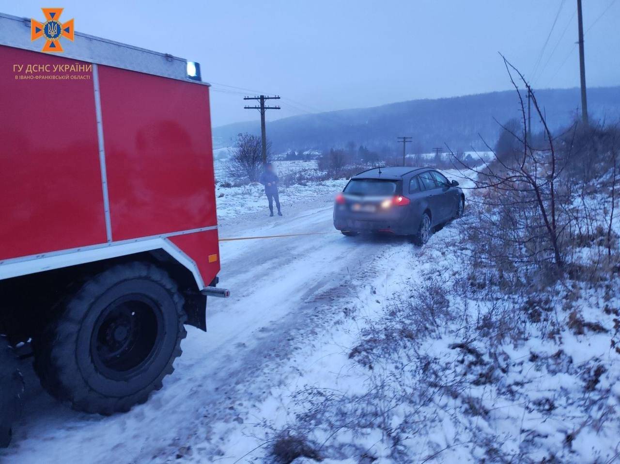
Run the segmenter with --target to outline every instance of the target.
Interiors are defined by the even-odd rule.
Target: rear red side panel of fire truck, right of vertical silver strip
[[[112,239],[215,225],[208,87],[98,68]]]

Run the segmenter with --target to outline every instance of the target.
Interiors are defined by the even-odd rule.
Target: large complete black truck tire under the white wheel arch
[[[104,415],[144,403],[181,354],[184,299],[164,270],[120,264],[78,285],[34,342],[43,388]]]

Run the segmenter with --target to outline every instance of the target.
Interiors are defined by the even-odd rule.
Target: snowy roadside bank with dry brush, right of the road
[[[245,424],[221,424],[233,461],[614,459],[620,298],[576,282],[499,298],[468,269],[467,221],[389,252],[352,301],[334,301],[290,377]]]

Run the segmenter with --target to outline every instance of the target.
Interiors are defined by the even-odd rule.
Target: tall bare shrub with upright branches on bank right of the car
[[[500,279],[512,274],[507,278],[513,282],[534,274],[543,277],[541,283],[577,274],[597,279],[597,272],[609,273],[618,262],[618,234],[611,227],[618,196],[618,129],[575,122],[552,134],[529,83],[504,63],[521,122],[500,125],[500,139],[489,147],[494,159],[482,167],[466,166],[453,154],[455,162],[476,173],[465,174],[476,185],[470,204],[477,203],[479,216],[479,225],[469,231],[472,254],[478,264],[497,269]],[[542,133],[529,135],[525,92],[513,74],[531,94]],[[598,256],[583,259],[584,248]]]

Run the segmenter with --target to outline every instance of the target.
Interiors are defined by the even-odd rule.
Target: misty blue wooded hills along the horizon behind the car
[[[580,92],[573,89],[534,91],[553,129],[570,124],[580,107]],[[591,120],[620,120],[620,86],[588,89]],[[273,151],[288,149],[339,148],[353,141],[370,149],[396,151],[396,137],[414,138],[410,153],[424,153],[447,143],[453,150],[484,149],[480,136],[490,144],[499,133],[498,122],[520,118],[515,91],[441,99],[409,100],[371,108],[304,114],[267,123],[267,137]],[[532,109],[533,130],[541,130]],[[214,146],[231,146],[238,133],[260,134],[260,119],[213,128]]]

